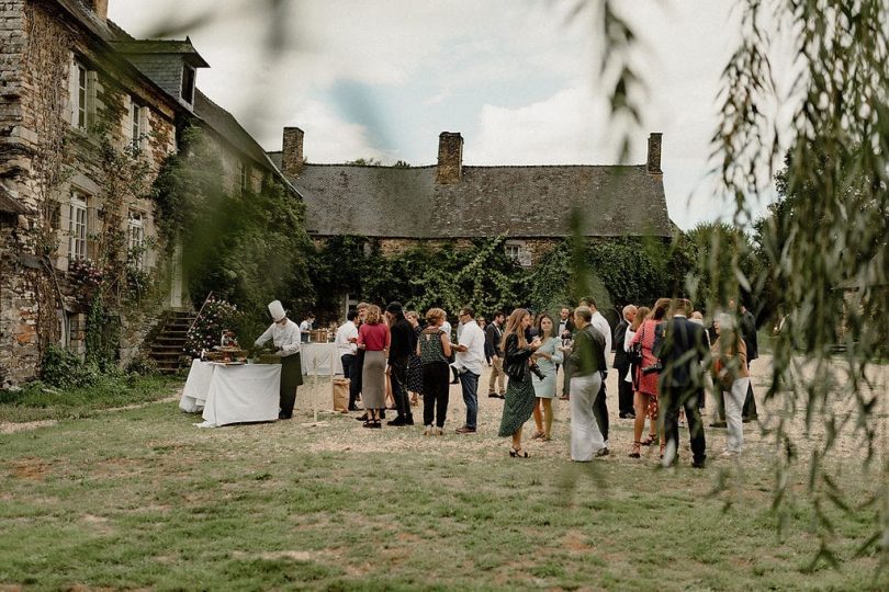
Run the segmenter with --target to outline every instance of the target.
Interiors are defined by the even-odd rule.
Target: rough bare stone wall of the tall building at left
[[[97,137],[71,126],[74,60],[94,72],[87,104],[95,114],[117,117],[110,136],[121,149],[128,141],[127,101],[147,107],[149,136],[139,158],[150,178],[176,149],[175,102],[57,10],[52,2],[0,0],[0,178],[31,210],[0,214],[0,387],[33,377],[48,343],[65,340],[83,351],[86,311],[67,277],[70,195],[77,190],[94,201],[88,230],[95,232],[108,217],[99,200],[106,180]],[[156,236],[153,203],[126,200],[117,213],[123,225],[131,209],[144,214],[146,238]],[[156,253],[147,263],[158,263]],[[121,350],[127,357],[149,329],[143,325],[151,311],[143,312],[124,318]]]

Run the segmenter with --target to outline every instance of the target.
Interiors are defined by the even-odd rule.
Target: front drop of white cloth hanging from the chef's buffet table
[[[204,406],[203,426],[277,421],[280,364],[216,364]]]

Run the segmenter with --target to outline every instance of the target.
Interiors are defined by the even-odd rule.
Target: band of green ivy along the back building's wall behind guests
[[[373,239],[330,238],[313,254],[315,311],[322,319],[341,317],[344,294],[381,304],[398,300],[417,310],[471,306],[482,314],[517,306],[553,311],[584,296],[596,298],[603,310],[650,305],[662,296],[685,294],[697,253],[684,237],[669,243],[645,238],[584,241],[579,258],[587,277],[581,287],[573,282],[570,240],[524,269],[506,255],[505,238],[479,239],[462,249],[418,244],[387,257]]]

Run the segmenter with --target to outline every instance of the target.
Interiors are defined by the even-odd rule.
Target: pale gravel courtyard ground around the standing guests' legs
[[[849,420],[857,419],[858,415],[854,406],[854,398],[846,397],[842,392],[843,385],[845,384],[842,380],[842,368],[844,367],[843,364],[844,363],[842,361],[832,362],[834,374],[840,377],[837,379],[840,384],[837,390],[840,390],[840,392],[837,392],[837,397],[829,403],[830,412],[823,414],[815,413],[811,425],[807,429],[804,419],[804,400],[796,400],[794,395],[788,391],[779,394],[769,401],[765,401],[765,394],[768,390],[768,385],[770,384],[772,379],[772,357],[769,355],[763,355],[753,362],[751,364],[751,378],[754,396],[756,397],[758,406],[759,420],[757,422],[744,424],[744,456],[746,459],[755,460],[761,456],[763,459],[774,457],[774,430],[778,425],[781,418],[787,419],[785,422],[785,430],[788,432],[791,440],[802,448],[807,447],[807,443],[809,445],[817,445],[819,442],[821,442],[825,430],[825,419],[840,421],[842,421],[844,418],[848,418]],[[807,375],[811,375],[812,371],[810,368],[802,368],[801,372],[806,373]],[[453,452],[457,452],[465,451],[466,448],[487,449],[494,445],[503,447],[504,454],[506,453],[509,446],[508,439],[498,439],[496,436],[500,415],[503,413],[503,400],[487,397],[489,376],[491,368],[486,367],[479,380],[479,433],[472,435],[459,435],[454,433],[454,430],[460,428],[464,422],[465,406],[463,403],[460,385],[451,385],[448,419],[444,426],[446,437],[440,439],[440,446],[446,449],[452,448]],[[556,390],[558,392],[561,392],[563,376],[563,373],[560,371]],[[881,399],[877,405],[877,415],[871,419],[874,425],[877,426],[876,432],[879,439],[878,443],[882,446],[882,448],[878,447],[877,449],[889,449],[889,434],[887,434],[887,431],[889,431],[889,398],[886,397],[887,386],[889,386],[889,366],[873,366],[868,372],[868,376],[870,377],[870,386],[865,386],[863,391],[867,396],[876,395]],[[633,441],[633,421],[630,419],[618,418],[617,382],[617,372],[609,372],[608,379],[606,382],[611,432],[609,434],[609,446],[612,458],[616,457],[627,459],[627,455],[631,451]],[[324,377],[308,377],[306,379],[306,384],[300,387],[296,398],[296,411],[302,411],[301,417],[311,417],[313,405],[316,405],[317,409],[320,410],[320,421],[333,420],[337,422],[336,415],[329,411],[333,407],[333,397],[330,387],[328,385],[329,379]],[[796,412],[791,414],[789,413],[789,409],[794,407],[796,407]],[[555,399],[553,401],[553,437],[551,442],[541,443],[530,441],[531,434],[533,434],[536,431],[533,419],[529,420],[528,423],[525,424],[524,439],[527,449],[532,455],[543,455],[547,457],[566,459],[569,458],[567,446],[571,421],[569,401]],[[391,414],[389,414],[386,419],[394,418],[394,411],[390,411],[390,413]],[[709,426],[713,420],[713,413],[714,405],[712,392],[708,390],[707,401],[704,410],[704,419],[708,456],[714,460],[718,454],[725,447],[727,431],[725,429]],[[351,413],[351,415],[357,414],[358,413]],[[296,415],[294,415],[294,418],[296,418]],[[393,445],[404,447],[420,446],[423,444],[423,437],[420,435],[423,431],[421,399],[419,401],[419,406],[414,407],[414,420],[416,425],[413,428],[387,428],[384,425],[384,430],[398,430],[400,433],[404,434],[404,437],[397,439],[394,442],[390,439],[381,440],[356,437],[356,432],[361,432],[361,423],[356,421],[346,424],[347,429],[341,432],[338,431],[336,434],[325,430],[325,437],[314,441],[311,446],[313,451],[317,452],[346,449],[378,452],[384,448],[391,449]],[[834,452],[841,456],[858,457],[864,454],[862,434],[854,432],[854,421],[848,421],[844,425],[843,431],[845,437],[839,439],[835,445]],[[680,430],[679,437],[683,440],[683,447],[687,448],[687,431]],[[643,457],[641,460],[656,462],[656,457],[654,456],[656,448],[656,446],[653,446],[650,451],[643,449]],[[686,456],[688,456],[687,453]]]

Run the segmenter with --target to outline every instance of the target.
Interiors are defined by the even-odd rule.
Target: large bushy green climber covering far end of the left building
[[[232,191],[225,177],[217,147],[201,128],[185,128],[155,181],[156,217],[170,249],[182,247],[195,308],[213,293],[243,312],[239,335],[258,334],[269,301],[279,299],[291,312],[314,303],[313,248],[302,202],[279,181],[267,177],[258,192]]]

